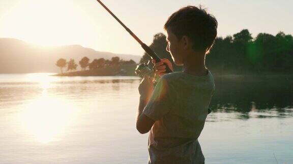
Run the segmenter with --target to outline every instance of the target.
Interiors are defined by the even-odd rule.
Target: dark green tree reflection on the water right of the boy
[[[239,112],[241,119],[292,116],[292,77],[228,77],[215,78],[214,112]]]

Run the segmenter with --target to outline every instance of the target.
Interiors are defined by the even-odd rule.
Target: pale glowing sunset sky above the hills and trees
[[[293,34],[291,0],[102,0],[150,45],[167,18],[181,7],[202,5],[219,23],[218,36],[249,29]],[[0,37],[41,46],[81,45],[97,51],[143,55],[131,35],[96,0],[1,0]]]

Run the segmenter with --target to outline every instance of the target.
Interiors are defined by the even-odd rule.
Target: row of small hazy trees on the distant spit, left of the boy
[[[134,60],[123,60],[119,57],[112,57],[111,60],[100,58],[94,59],[90,62],[90,59],[87,57],[83,57],[78,64],[80,65],[81,71],[86,70],[88,67],[90,70],[97,69],[97,68],[105,68],[109,66],[119,66],[123,64],[136,64]],[[67,66],[67,71],[76,70],[77,64],[75,63],[74,59],[70,59],[68,62],[66,59],[60,58],[56,61],[55,65],[60,67],[61,73],[63,73],[63,68]]]

